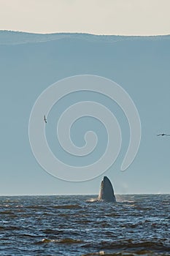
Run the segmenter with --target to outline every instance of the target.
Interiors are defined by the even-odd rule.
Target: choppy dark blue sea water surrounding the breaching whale
[[[0,197],[0,255],[170,255],[170,195]]]

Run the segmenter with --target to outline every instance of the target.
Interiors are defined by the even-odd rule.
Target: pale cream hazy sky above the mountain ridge
[[[169,0],[0,0],[0,29],[170,34]]]

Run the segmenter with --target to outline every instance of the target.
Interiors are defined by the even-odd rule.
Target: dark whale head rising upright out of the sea
[[[103,180],[101,181],[101,188],[98,195],[98,200],[104,202],[116,202],[112,183],[109,178],[107,178],[107,176],[104,176]]]

